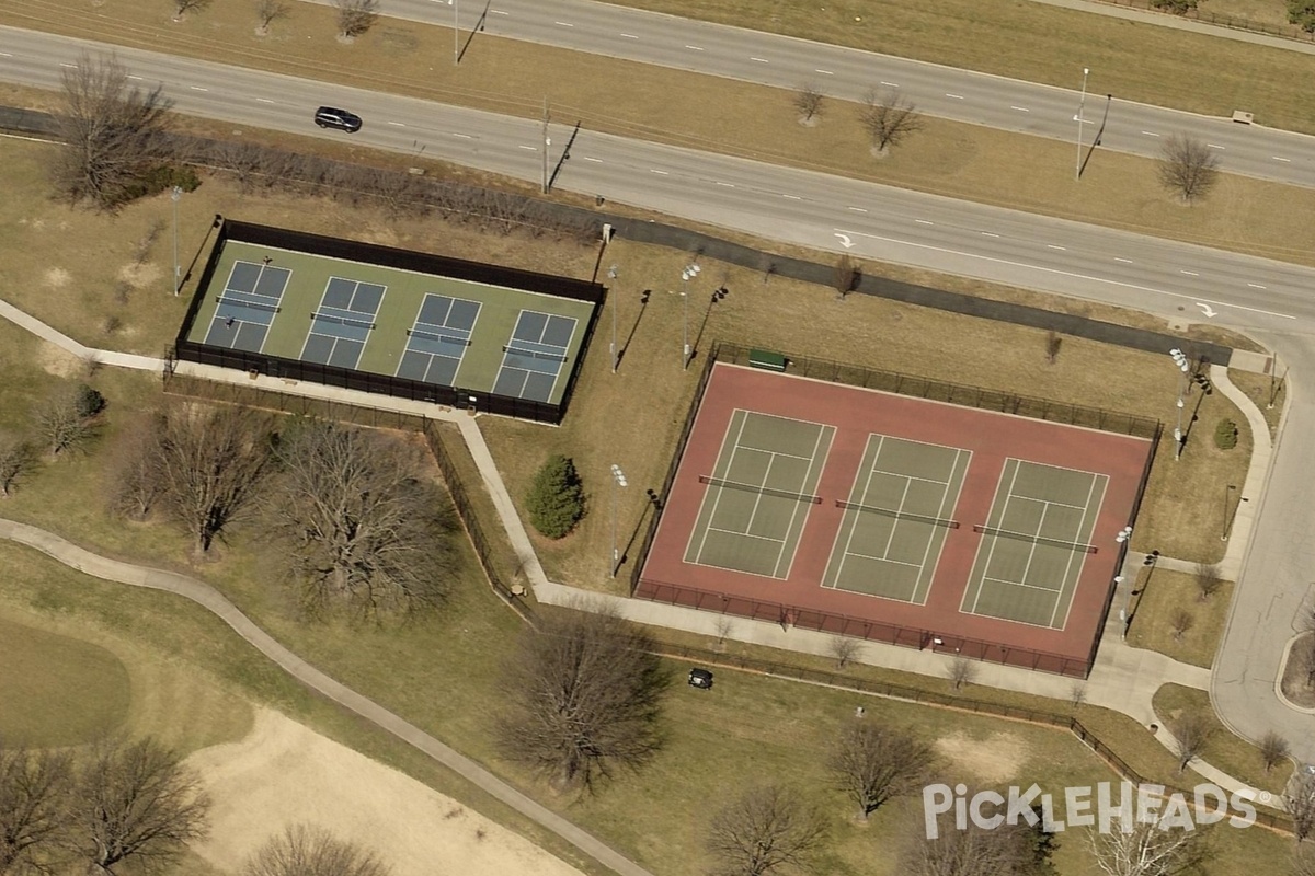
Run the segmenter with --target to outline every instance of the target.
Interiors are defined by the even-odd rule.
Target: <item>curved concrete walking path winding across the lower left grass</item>
[[[238,611],[233,603],[209,584],[178,573],[109,559],[84,550],[51,532],[14,520],[0,519],[0,538],[8,538],[9,541],[34,548],[66,566],[96,578],[132,584],[134,587],[163,590],[204,605],[212,613],[217,615],[220,620],[231,626],[238,636],[310,690],[327,696],[367,721],[388,730],[402,742],[419,749],[448,770],[469,780],[522,816],[543,825],[614,872],[622,876],[652,876],[647,869],[614,851],[602,841],[575,826],[551,809],[530,800],[480,764],[443,745],[414,724],[402,720],[373,700],[325,675],[256,626],[250,617]]]

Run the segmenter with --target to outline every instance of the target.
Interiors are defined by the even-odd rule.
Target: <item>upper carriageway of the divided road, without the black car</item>
[[[930,116],[1068,141],[1074,172],[1080,127],[1084,155],[1097,134],[1103,148],[1157,156],[1165,138],[1187,133],[1216,150],[1230,173],[1315,186],[1315,138],[1107,100],[1099,70],[1085,77],[1084,100],[1081,58],[1064,89],[588,0],[389,0],[387,14],[447,28],[455,18],[467,54],[488,34],[781,88],[811,83],[844,100],[898,89]]]

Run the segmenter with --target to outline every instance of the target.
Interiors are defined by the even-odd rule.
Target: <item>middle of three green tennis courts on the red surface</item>
[[[972,452],[869,435],[823,587],[924,604]]]

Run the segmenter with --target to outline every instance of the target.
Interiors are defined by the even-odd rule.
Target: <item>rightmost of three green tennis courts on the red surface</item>
[[[1064,629],[1109,475],[1007,458],[964,591],[963,611]]]

